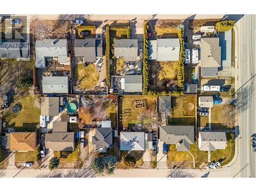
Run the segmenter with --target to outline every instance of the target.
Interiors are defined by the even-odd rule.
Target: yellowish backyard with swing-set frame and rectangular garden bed
[[[143,99],[146,101],[146,107],[136,108],[135,101]],[[122,129],[125,130],[127,127],[131,127],[135,123],[138,123],[137,115],[146,110],[156,110],[156,98],[148,96],[122,96],[118,102],[118,111],[122,116],[122,120],[119,122],[119,127],[122,126]]]

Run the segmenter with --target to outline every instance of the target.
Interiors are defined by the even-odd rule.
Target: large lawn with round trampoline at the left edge
[[[37,96],[13,96],[13,102],[3,116],[4,121],[7,122],[7,129],[14,127],[17,132],[35,131],[40,116],[39,105],[36,101],[38,98],[35,97]],[[18,114],[11,112],[11,106],[14,104],[20,106]]]

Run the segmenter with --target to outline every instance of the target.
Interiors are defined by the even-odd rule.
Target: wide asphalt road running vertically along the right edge
[[[244,15],[240,20],[240,42],[239,62],[241,63],[241,85],[248,81],[255,74],[255,15]],[[252,86],[250,91],[246,88]],[[248,102],[248,107],[241,113],[241,177],[255,177],[255,156],[251,152],[250,137],[256,134],[255,127],[255,77],[248,81],[242,88],[242,98]],[[244,103],[246,105],[247,103]],[[248,166],[246,166],[248,164]]]

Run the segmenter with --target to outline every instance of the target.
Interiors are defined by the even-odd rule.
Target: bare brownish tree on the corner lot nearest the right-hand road
[[[229,128],[232,128],[234,125],[236,125],[236,115],[238,111],[233,105],[224,105],[221,111],[221,114],[223,116],[222,125],[227,126]]]

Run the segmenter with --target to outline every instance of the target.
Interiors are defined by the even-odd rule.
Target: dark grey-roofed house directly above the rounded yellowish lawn
[[[83,57],[86,62],[95,62],[96,57],[102,56],[102,39],[75,39],[74,52],[76,57]]]

